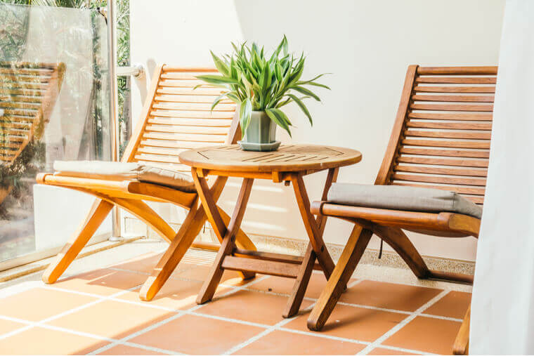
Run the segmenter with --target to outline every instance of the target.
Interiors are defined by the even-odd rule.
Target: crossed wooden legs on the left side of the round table
[[[211,301],[211,298],[213,298],[216,288],[223,276],[224,270],[222,264],[224,258],[230,255],[233,249],[235,249],[235,236],[240,229],[243,216],[245,215],[254,179],[245,178],[243,180],[232,218],[230,218],[230,223],[228,223],[228,228],[223,223],[223,219],[214,203],[214,199],[210,195],[206,179],[198,177],[196,172],[194,172],[193,180],[195,180],[195,186],[197,187],[198,195],[202,200],[202,206],[204,207],[204,211],[206,211],[208,220],[214,228],[217,237],[221,239],[221,247],[219,248],[215,262],[211,266],[209,276],[206,279],[206,282],[202,285],[202,289],[197,297],[197,304],[202,304]]]

